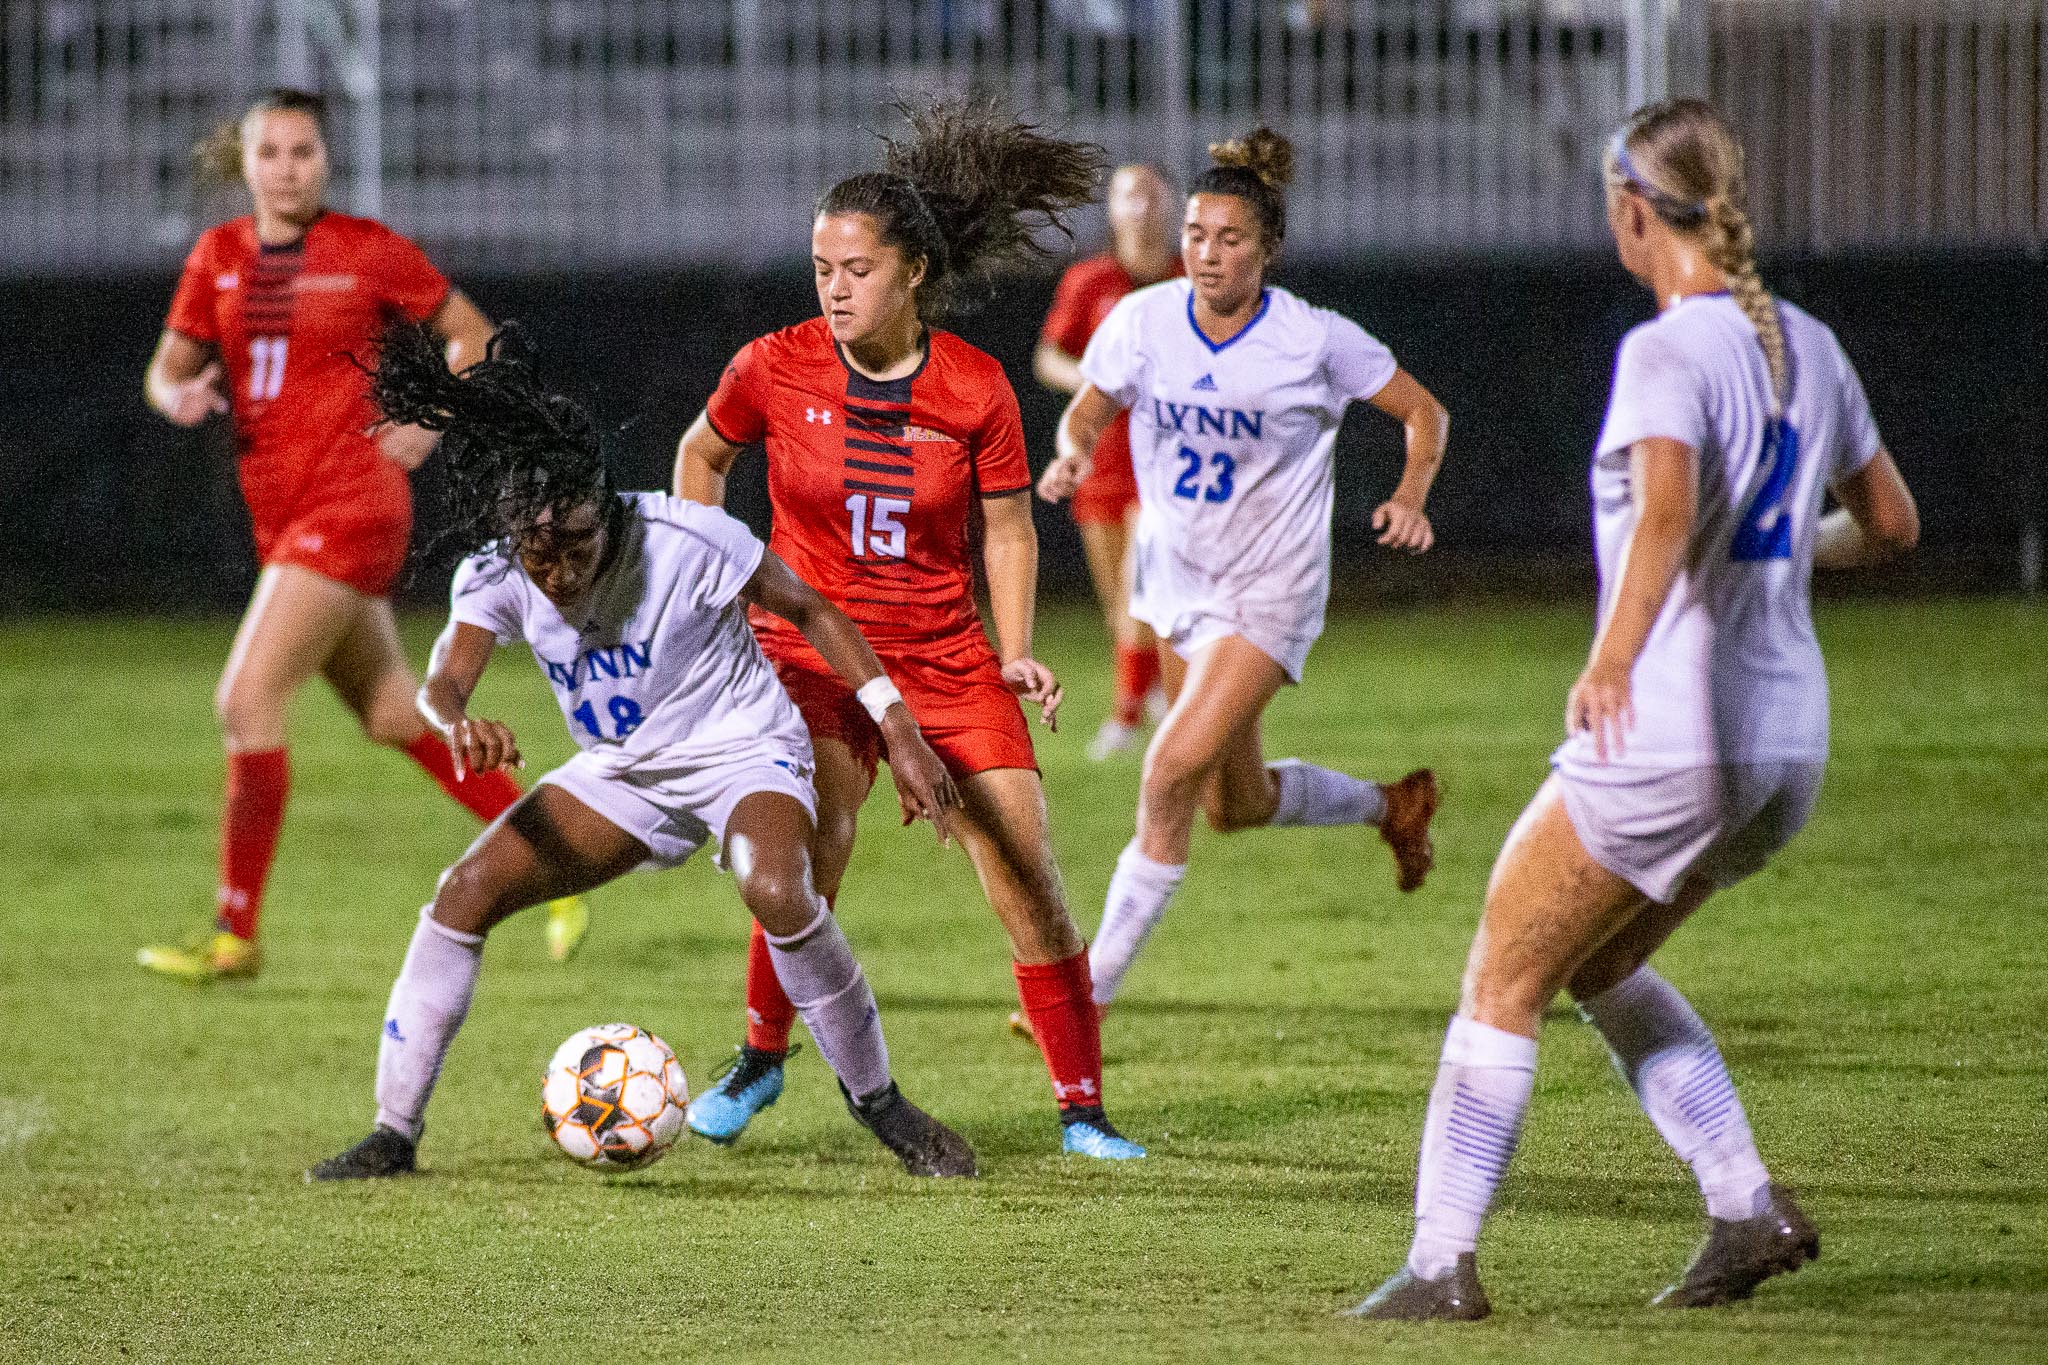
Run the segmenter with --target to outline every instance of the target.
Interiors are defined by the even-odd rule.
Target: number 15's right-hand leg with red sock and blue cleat
[[[1102,1160],[1143,1156],[1145,1148],[1118,1134],[1102,1107],[1102,1023],[1087,945],[1067,913],[1038,774],[991,767],[963,778],[956,829],[1010,935],[1018,1001],[1053,1076],[1061,1146]]]

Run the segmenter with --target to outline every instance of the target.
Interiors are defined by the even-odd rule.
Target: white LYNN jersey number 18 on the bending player
[[[762,741],[809,751],[739,589],[768,546],[717,508],[623,493],[623,542],[582,620],[563,620],[518,559],[485,551],[455,571],[451,618],[500,645],[526,641],[569,722],[608,767],[702,767]]]

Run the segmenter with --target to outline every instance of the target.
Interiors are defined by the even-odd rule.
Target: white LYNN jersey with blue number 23
[[[1284,289],[1221,344],[1194,325],[1188,280],[1126,295],[1081,375],[1130,409],[1130,614],[1169,639],[1202,616],[1321,634],[1337,426],[1395,368],[1358,323]]]

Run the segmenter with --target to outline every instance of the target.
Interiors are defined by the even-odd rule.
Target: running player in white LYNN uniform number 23
[[[1102,432],[1130,413],[1139,481],[1130,614],[1174,647],[1174,708],[1145,751],[1137,837],[1116,860],[1090,950],[1108,1007],[1188,872],[1196,808],[1223,831],[1372,825],[1397,884],[1430,874],[1436,778],[1380,786],[1300,759],[1268,763],[1260,716],[1300,681],[1329,598],[1337,426],[1354,401],[1401,422],[1407,467],[1372,512],[1380,544],[1432,544],[1423,499],[1450,420],[1358,323],[1268,284],[1286,233],[1292,147],[1272,129],[1210,147],[1182,221],[1186,280],[1118,303],[1081,356],[1087,381],[1059,422],[1038,481],[1067,497]]]

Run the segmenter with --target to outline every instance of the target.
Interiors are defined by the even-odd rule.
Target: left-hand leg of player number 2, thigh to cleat
[[[1415,1240],[1407,1265],[1356,1314],[1483,1318],[1473,1254],[1507,1173],[1536,1081],[1536,1029],[1573,972],[1647,905],[1602,868],[1550,778],[1516,821],[1493,866],[1466,960],[1458,1015],[1444,1038],[1423,1119]]]

